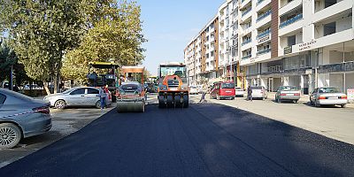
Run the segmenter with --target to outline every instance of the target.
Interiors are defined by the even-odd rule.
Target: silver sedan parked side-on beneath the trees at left
[[[99,90],[93,87],[77,87],[68,89],[63,93],[45,96],[43,100],[50,102],[50,106],[58,109],[64,109],[67,106],[96,106],[96,108],[101,108]],[[105,104],[111,105],[112,96],[110,96],[110,93],[106,94]]]

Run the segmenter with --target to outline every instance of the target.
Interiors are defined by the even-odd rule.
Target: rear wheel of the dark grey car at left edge
[[[0,124],[0,150],[15,147],[21,140],[21,130],[12,123]]]

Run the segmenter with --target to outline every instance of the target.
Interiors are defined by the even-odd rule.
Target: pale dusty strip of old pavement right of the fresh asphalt
[[[200,96],[192,97],[199,100]],[[207,95],[206,98],[208,99],[209,96]],[[313,107],[308,103],[308,98],[301,99],[298,104],[278,104],[274,102],[273,93],[270,93],[265,101],[254,100],[250,102],[246,101],[244,97],[237,97],[235,100],[208,100],[354,144],[354,107],[352,104],[348,104],[347,108],[339,106]]]

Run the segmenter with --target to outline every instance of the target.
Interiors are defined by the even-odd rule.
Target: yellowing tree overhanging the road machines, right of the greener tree
[[[88,12],[94,9],[89,7]],[[142,35],[140,13],[140,6],[135,2],[105,1],[96,16],[89,15],[91,28],[80,47],[65,54],[61,70],[65,78],[84,81],[90,61],[113,59],[119,65],[141,63],[144,58],[141,44],[146,39]]]

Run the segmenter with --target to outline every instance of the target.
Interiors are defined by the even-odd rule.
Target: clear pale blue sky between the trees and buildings
[[[183,61],[183,50],[192,37],[217,14],[225,0],[138,0],[142,8],[143,34],[149,42],[142,47],[151,74],[158,64]]]

